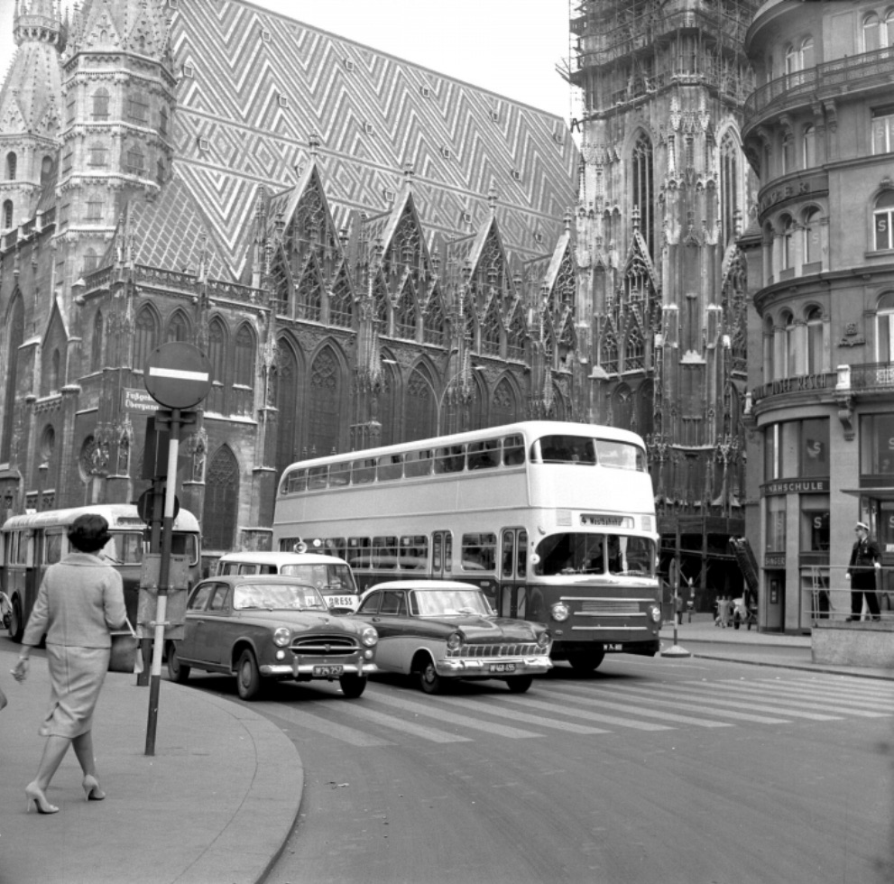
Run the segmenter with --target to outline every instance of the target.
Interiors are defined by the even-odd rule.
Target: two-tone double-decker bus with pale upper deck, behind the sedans
[[[547,623],[553,658],[591,672],[606,651],[659,650],[656,527],[641,437],[527,421],[291,465],[273,546],[318,542],[363,589],[473,583],[502,616]]]

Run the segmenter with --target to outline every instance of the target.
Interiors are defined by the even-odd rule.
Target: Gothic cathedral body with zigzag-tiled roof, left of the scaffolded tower
[[[18,0],[14,37],[0,516],[148,487],[168,341],[213,365],[211,553],[266,545],[300,457],[586,416],[565,121],[241,0]]]

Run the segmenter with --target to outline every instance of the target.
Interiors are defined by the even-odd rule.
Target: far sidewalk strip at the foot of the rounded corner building
[[[662,625],[660,638],[662,651],[673,645],[673,622]],[[677,645],[688,650],[693,657],[703,659],[894,681],[894,669],[814,663],[809,635],[758,632],[753,628],[746,630],[743,626],[738,630],[733,627],[721,629],[714,626],[713,614],[695,614],[690,623],[687,621],[687,613],[684,613],[683,623],[677,625]]]

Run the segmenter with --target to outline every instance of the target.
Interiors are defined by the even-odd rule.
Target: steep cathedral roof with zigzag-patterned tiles
[[[279,193],[300,180],[311,132],[338,227],[356,209],[387,212],[411,164],[432,238],[468,234],[464,215],[472,228],[485,224],[492,186],[508,249],[531,258],[562,233],[577,151],[558,116],[243,0],[180,4],[171,43],[183,74],[175,178],[200,208],[225,278],[244,279],[249,267],[258,187]],[[198,247],[180,227],[173,244],[143,240],[139,260]]]

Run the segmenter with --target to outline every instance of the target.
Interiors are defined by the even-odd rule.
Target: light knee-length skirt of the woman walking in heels
[[[50,708],[41,737],[78,737],[93,727],[93,710],[108,671],[108,648],[47,643]]]

